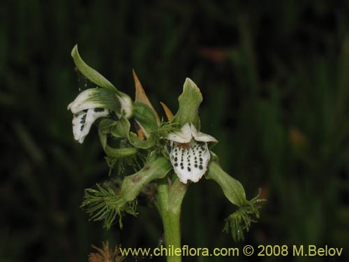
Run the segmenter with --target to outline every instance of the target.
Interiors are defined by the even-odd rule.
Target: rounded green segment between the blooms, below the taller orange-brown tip
[[[140,125],[144,136],[149,138],[151,132],[158,129],[158,122],[156,121],[156,116],[153,110],[145,103],[133,103],[133,117]]]

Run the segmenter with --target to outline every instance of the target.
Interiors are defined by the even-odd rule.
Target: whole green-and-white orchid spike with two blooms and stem
[[[161,103],[168,117],[168,122],[164,122],[134,72],[136,94],[133,102],[103,75],[87,66],[76,46],[72,56],[78,70],[102,87],[85,90],[68,105],[74,114],[75,140],[83,143],[91,125],[101,118],[98,135],[108,165],[120,169],[127,163],[135,170],[132,175],[119,177],[122,182],[117,189],[111,182],[105,182],[85,190],[82,208],[87,210],[90,219],[104,221],[104,226],[110,228],[119,217],[122,227],[121,217],[125,213],[137,215],[138,195],[148,194],[161,215],[166,245],[181,247],[181,203],[191,182],[205,177],[217,182],[228,201],[237,206],[237,210],[225,219],[224,231],[231,231],[234,240],[243,240],[244,231],[248,231],[259,217],[258,203],[262,200],[258,198],[259,194],[251,201],[246,200],[242,184],[225,173],[216,154],[210,151],[211,145],[218,141],[200,132],[202,94],[193,80],[186,78],[175,115]],[[136,126],[135,131],[131,129],[131,121]],[[112,146],[110,140],[117,141],[119,146]],[[168,257],[168,262],[174,261],[181,261],[180,256]]]

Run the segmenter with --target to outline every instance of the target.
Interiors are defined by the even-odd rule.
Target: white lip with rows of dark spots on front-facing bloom
[[[198,182],[207,171],[211,155],[207,143],[191,140],[190,145],[172,143],[170,161],[179,180],[186,184],[188,180]]]

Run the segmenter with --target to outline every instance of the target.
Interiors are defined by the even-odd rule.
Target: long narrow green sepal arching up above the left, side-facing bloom
[[[88,80],[95,83],[99,87],[109,89],[112,92],[118,92],[117,88],[112,85],[101,73],[98,73],[94,68],[88,66],[84,60],[80,57],[79,51],[77,50],[77,45],[71,50],[71,57],[73,57],[75,66],[79,69],[80,73],[84,75]]]

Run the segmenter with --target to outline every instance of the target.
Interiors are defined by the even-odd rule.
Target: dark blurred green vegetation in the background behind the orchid
[[[66,105],[90,85],[74,71],[75,43],[128,94],[135,68],[158,112],[159,101],[177,110],[186,77],[198,84],[222,166],[248,198],[262,186],[268,199],[245,243],[343,247],[348,259],[348,12],[348,1],[325,0],[1,1],[0,261],[87,261],[102,240],[161,240],[154,208],[140,206],[122,231],[79,208],[108,170],[96,129],[73,142]],[[221,233],[232,209],[214,182],[192,184],[183,243],[244,245]]]

